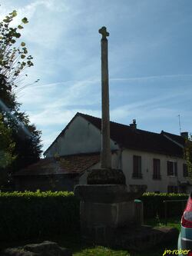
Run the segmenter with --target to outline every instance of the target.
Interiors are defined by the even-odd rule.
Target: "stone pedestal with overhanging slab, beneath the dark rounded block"
[[[113,244],[117,228],[134,224],[134,199],[142,193],[128,192],[126,185],[77,185],[83,241]]]

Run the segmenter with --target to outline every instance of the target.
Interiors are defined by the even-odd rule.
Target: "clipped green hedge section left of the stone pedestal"
[[[79,223],[72,192],[0,193],[0,241],[68,234],[79,230]]]

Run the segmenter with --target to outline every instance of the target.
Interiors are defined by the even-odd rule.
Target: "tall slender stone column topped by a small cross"
[[[108,39],[107,29],[102,27],[98,31],[101,35],[101,168],[111,168],[110,147],[110,118],[109,118],[109,89],[108,89]]]

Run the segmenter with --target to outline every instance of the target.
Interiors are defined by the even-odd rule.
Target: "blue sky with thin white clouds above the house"
[[[98,29],[110,36],[111,120],[137,128],[192,132],[191,0],[2,0],[2,19],[18,11],[13,25],[34,57],[18,92],[22,110],[42,131],[48,148],[77,111],[101,117]]]

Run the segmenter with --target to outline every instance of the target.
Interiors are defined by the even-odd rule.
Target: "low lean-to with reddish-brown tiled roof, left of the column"
[[[100,161],[99,154],[66,155],[43,158],[15,174],[18,191],[73,191],[81,175]]]

